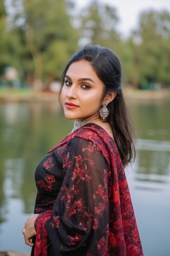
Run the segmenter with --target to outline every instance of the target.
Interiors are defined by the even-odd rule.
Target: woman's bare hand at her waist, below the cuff
[[[39,214],[32,214],[25,222],[25,226],[22,230],[26,245],[33,246],[31,238],[36,235],[35,220]]]

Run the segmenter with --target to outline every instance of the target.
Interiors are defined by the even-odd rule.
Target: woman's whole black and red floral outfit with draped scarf
[[[35,256],[142,256],[116,144],[98,125],[69,134],[36,170]]]

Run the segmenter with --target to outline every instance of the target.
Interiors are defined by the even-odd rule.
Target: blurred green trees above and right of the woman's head
[[[92,1],[80,16],[81,43],[111,48],[122,62],[124,82],[134,87],[148,83],[170,86],[170,14],[145,11],[138,30],[126,40],[117,31],[116,10]]]

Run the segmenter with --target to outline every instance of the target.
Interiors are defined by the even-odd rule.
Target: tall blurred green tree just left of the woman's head
[[[43,76],[49,77],[48,85],[58,78],[77,48],[78,34],[66,12],[67,2],[24,0],[25,42],[33,60],[35,87]]]

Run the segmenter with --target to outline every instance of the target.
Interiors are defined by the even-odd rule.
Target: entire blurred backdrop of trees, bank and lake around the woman
[[[145,256],[170,255],[170,2],[0,0],[0,251],[30,251],[21,230],[34,172],[72,129],[58,103],[71,55],[120,57],[137,158],[126,168]]]

